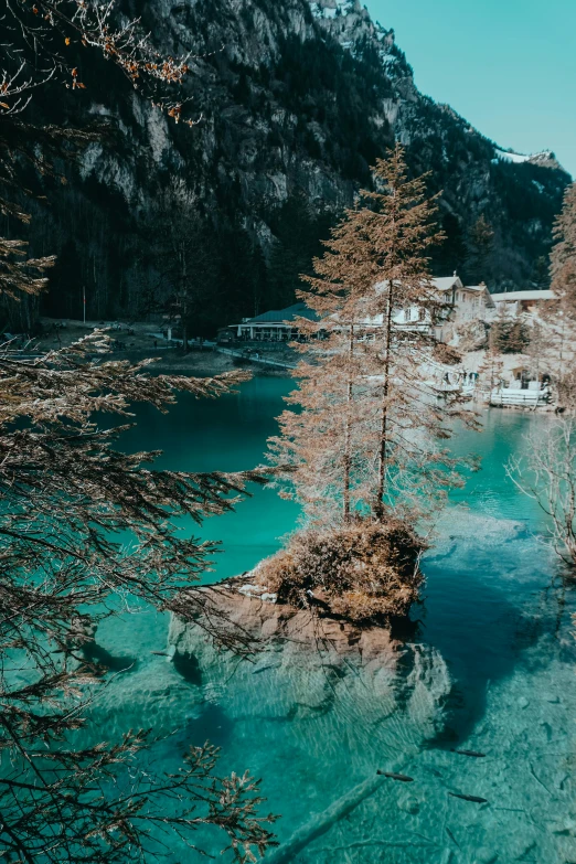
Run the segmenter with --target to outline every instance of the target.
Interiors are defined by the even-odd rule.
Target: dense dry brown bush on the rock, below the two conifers
[[[418,564],[424,548],[401,520],[358,519],[296,534],[286,550],[259,565],[258,580],[280,601],[319,602],[351,621],[405,616],[423,583]]]

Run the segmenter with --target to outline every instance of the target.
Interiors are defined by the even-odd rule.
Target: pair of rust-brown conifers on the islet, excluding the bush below
[[[434,383],[430,330],[442,308],[428,269],[439,235],[425,181],[408,179],[399,145],[380,160],[374,190],[346,211],[299,295],[318,318],[301,322],[310,341],[289,397],[303,410],[282,414],[271,447],[317,524],[360,513],[414,521],[458,482],[439,442],[456,417],[474,420],[460,394],[440,401]]]

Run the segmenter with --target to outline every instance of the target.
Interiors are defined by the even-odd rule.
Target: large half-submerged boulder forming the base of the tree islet
[[[417,750],[444,725],[451,680],[434,649],[403,643],[387,627],[360,627],[270,601],[266,586],[253,578],[201,590],[231,628],[259,640],[259,652],[252,662],[238,662],[214,648],[201,627],[174,615],[169,643],[177,658],[195,658],[203,682],[218,682],[221,704],[236,721],[326,715],[338,724],[344,712],[353,712],[369,737],[371,725],[390,724],[403,751]],[[398,716],[408,723],[398,724]]]

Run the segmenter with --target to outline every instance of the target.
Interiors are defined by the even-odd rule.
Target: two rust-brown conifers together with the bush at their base
[[[434,326],[445,309],[428,258],[439,234],[425,184],[408,178],[396,145],[376,163],[374,189],[332,231],[314,276],[305,277],[310,290],[299,294],[316,312],[298,322],[306,341],[288,402],[301,410],[284,412],[270,441],[273,460],[289,466],[285,494],[301,503],[305,534],[266,565],[266,577],[281,572],[280,594],[294,596],[292,580],[305,598],[327,587],[338,554],[348,564],[339,563],[340,585],[332,578],[328,593],[345,591],[352,617],[406,611],[415,599],[418,531],[461,483],[445,441],[456,420],[476,426],[461,393],[440,386],[446,352]],[[319,544],[327,566],[314,555],[310,568],[305,550]]]

